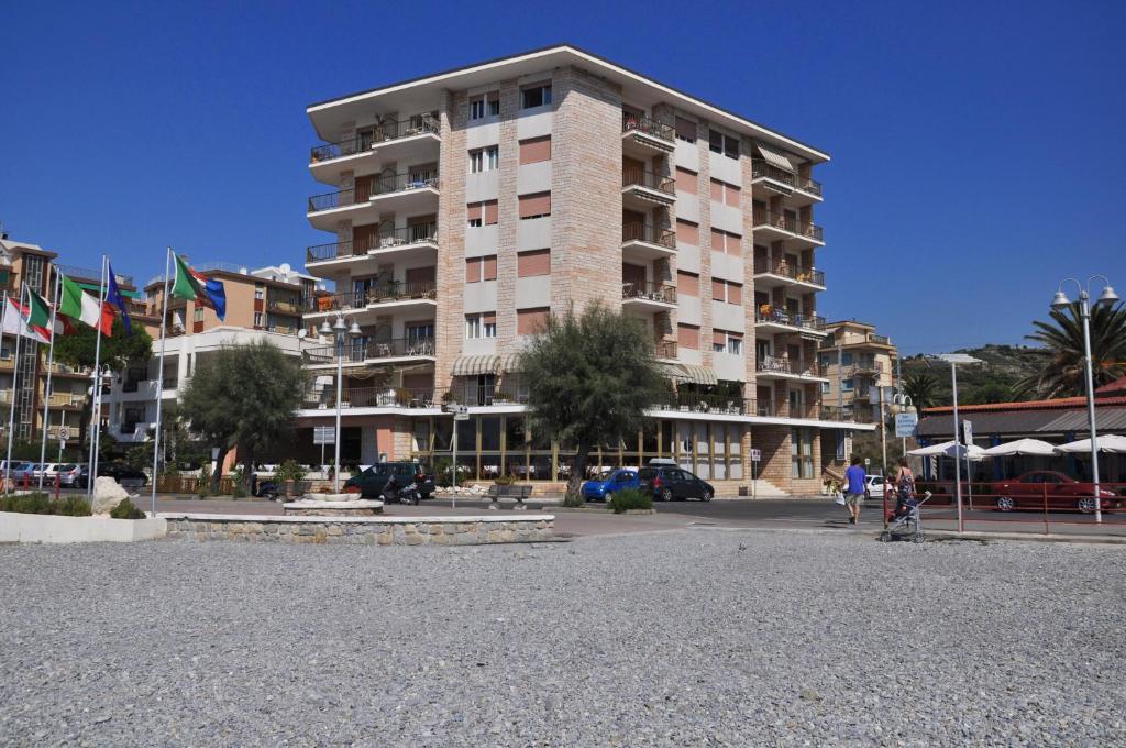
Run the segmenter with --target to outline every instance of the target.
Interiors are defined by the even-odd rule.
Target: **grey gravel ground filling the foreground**
[[[3,546],[0,743],[1124,745],[1124,572],[703,529]]]

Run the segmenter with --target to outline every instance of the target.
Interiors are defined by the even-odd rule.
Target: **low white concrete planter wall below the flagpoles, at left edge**
[[[133,543],[163,537],[163,518],[110,519],[0,511],[0,543]]]

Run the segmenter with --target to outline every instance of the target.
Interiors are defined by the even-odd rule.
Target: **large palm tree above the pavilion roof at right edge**
[[[1083,366],[1083,322],[1079,304],[1052,310],[1052,321],[1036,321],[1025,338],[1043,345],[1049,354],[1038,374],[1017,383],[1021,393],[1039,398],[1071,398],[1087,392]],[[1091,376],[1094,386],[1126,374],[1126,306],[1096,304],[1091,309]]]

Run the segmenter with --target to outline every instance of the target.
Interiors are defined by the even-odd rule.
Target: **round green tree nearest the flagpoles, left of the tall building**
[[[196,365],[180,410],[193,431],[220,448],[220,464],[238,447],[250,475],[254,456],[291,435],[305,386],[301,362],[280,348],[265,341],[227,346]],[[212,477],[213,491],[220,472]]]

